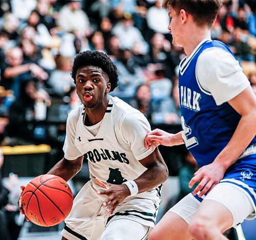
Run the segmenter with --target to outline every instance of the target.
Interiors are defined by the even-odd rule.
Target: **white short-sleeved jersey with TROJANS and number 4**
[[[65,158],[75,160],[83,155],[84,160],[88,160],[96,190],[102,188],[95,183],[95,177],[111,184],[138,178],[146,170],[139,160],[155,149],[144,147],[145,135],[151,130],[144,115],[119,98],[110,96],[96,136],[84,126],[85,115],[83,105],[69,114],[63,146]]]

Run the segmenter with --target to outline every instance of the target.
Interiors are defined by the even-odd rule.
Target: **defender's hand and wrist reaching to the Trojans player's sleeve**
[[[161,129],[155,129],[148,133],[145,137],[145,147],[151,147],[152,145],[164,145],[164,146],[174,146],[184,144],[181,137],[181,132],[177,134],[169,134]]]

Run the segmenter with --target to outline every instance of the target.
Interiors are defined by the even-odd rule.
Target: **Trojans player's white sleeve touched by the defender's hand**
[[[128,114],[122,122],[121,133],[137,160],[152,154],[156,147],[145,148],[144,139],[151,131],[150,123],[141,113]]]

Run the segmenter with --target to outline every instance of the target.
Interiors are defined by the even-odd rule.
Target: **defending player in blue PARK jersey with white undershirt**
[[[226,239],[226,229],[255,217],[256,97],[231,51],[210,39],[221,0],[164,0],[173,43],[186,57],[179,66],[182,131],[155,129],[145,146],[184,144],[199,182],[171,208],[149,239]]]

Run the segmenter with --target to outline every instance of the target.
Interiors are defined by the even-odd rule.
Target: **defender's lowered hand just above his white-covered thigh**
[[[199,168],[195,173],[194,177],[190,180],[188,186],[191,188],[196,182],[199,182],[193,195],[198,194],[202,197],[206,192],[209,192],[216,184],[218,184],[224,176],[225,169],[218,163],[210,163]]]

